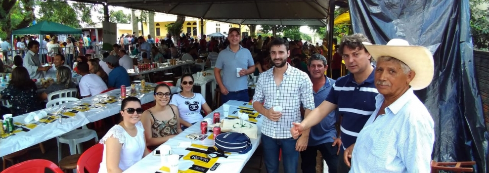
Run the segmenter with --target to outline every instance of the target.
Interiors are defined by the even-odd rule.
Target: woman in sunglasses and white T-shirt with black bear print
[[[192,74],[184,74],[180,79],[182,91],[174,94],[170,104],[178,107],[180,114],[180,125],[182,130],[187,129],[193,124],[201,121],[204,117],[200,114],[200,110],[204,109],[206,114],[212,112],[207,105],[205,98],[200,93],[193,93],[193,76]]]

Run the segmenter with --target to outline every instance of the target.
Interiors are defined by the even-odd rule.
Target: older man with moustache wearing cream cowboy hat
[[[429,173],[434,123],[413,90],[431,83],[433,55],[401,39],[363,44],[377,61],[375,86],[380,94],[356,143],[345,150],[345,163],[352,160],[350,173]]]

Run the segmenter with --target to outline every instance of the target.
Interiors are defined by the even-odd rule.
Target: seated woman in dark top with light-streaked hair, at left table
[[[75,83],[71,81],[71,70],[69,67],[60,66],[56,70],[56,82],[51,84],[46,90],[41,94],[41,100],[46,100],[47,95],[54,91],[59,91],[63,89],[77,88]],[[58,98],[57,96],[52,99]]]

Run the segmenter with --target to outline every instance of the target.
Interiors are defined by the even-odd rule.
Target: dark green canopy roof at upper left
[[[82,34],[82,30],[55,22],[42,21],[27,28],[12,32],[13,35]]]

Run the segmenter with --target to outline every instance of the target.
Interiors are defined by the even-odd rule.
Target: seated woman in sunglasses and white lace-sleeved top
[[[104,149],[99,173],[122,173],[149,154],[139,121],[142,112],[141,101],[136,97],[122,100],[122,122],[100,139]]]

